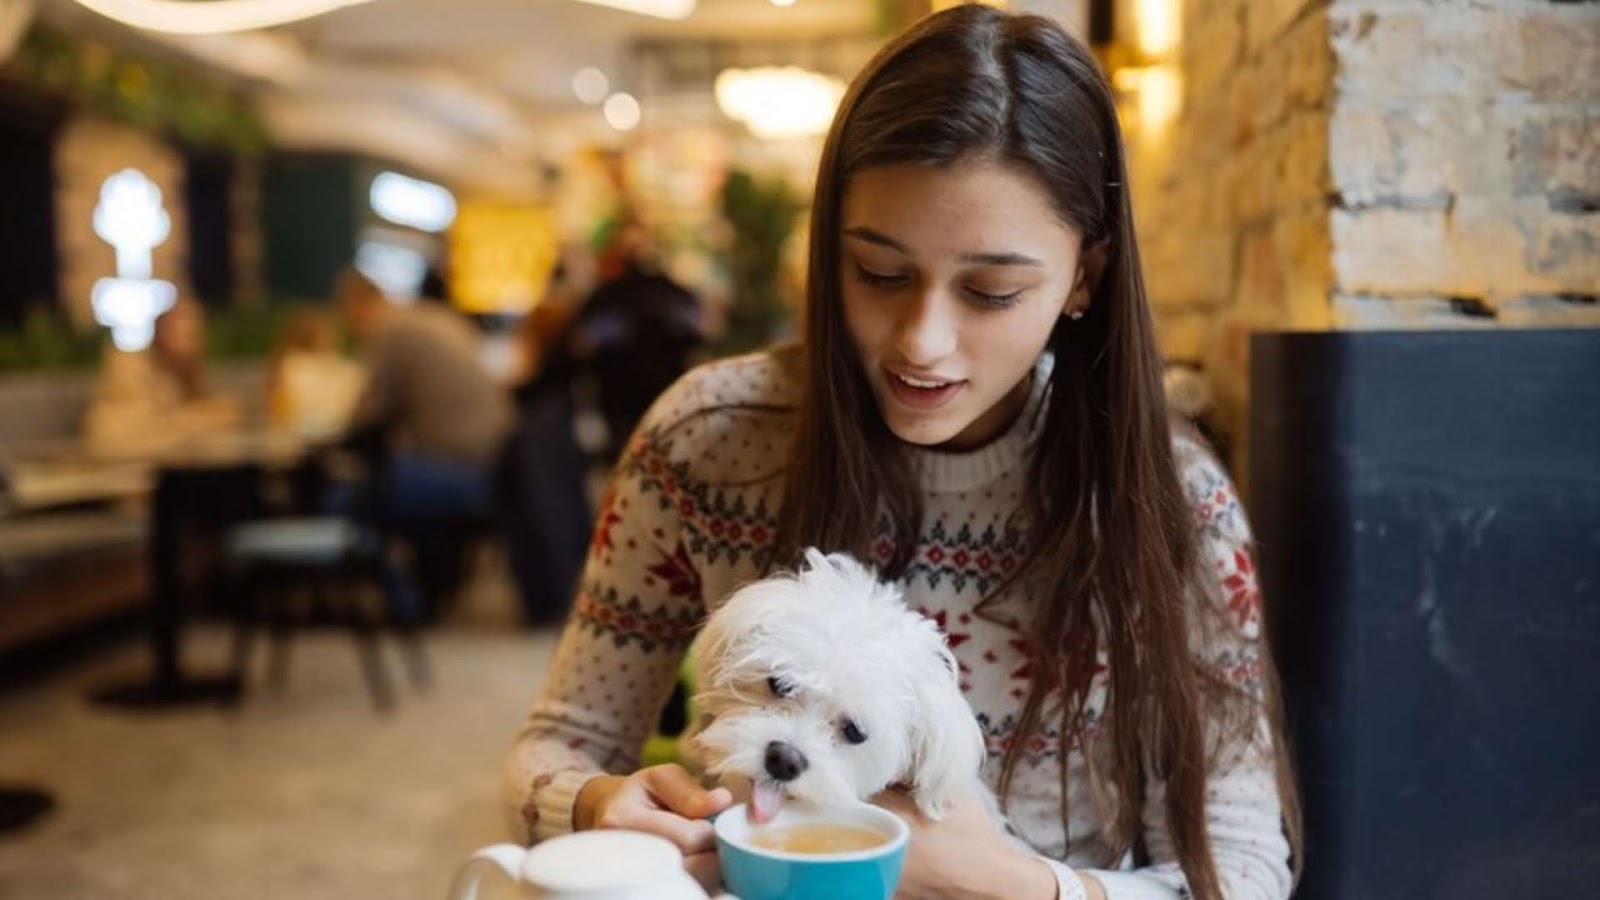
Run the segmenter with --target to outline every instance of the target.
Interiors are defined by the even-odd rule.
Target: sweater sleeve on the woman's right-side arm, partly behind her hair
[[[1230,900],[1282,900],[1290,895],[1290,847],[1283,833],[1266,717],[1261,641],[1261,591],[1251,557],[1250,524],[1227,474],[1197,440],[1176,442],[1179,476],[1195,511],[1200,562],[1214,578],[1194,609],[1192,649],[1214,676],[1253,697],[1248,735],[1221,748],[1206,780],[1205,823],[1211,838],[1222,895]],[[1237,729],[1235,729],[1237,730]],[[1208,729],[1216,743],[1218,725]],[[1178,900],[1189,897],[1166,828],[1166,786],[1146,785],[1144,842],[1150,865],[1138,871],[1086,871],[1109,900]]]

